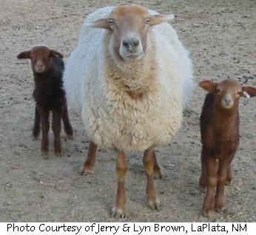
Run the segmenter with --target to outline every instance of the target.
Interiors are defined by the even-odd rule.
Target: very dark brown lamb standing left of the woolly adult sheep
[[[18,54],[18,59],[30,59],[35,82],[33,98],[36,101],[33,137],[40,134],[41,124],[41,154],[48,154],[49,115],[53,112],[52,129],[54,134],[55,154],[61,155],[61,118],[64,131],[69,139],[73,139],[73,129],[67,110],[67,101],[63,89],[62,75],[64,71],[63,55],[46,46],[36,46],[32,50]]]

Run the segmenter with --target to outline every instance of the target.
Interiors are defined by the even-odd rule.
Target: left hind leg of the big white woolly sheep
[[[96,151],[97,145],[90,141],[87,160],[84,162],[84,166],[81,169],[81,175],[83,175],[84,172],[86,172],[87,174],[93,173],[96,161]]]

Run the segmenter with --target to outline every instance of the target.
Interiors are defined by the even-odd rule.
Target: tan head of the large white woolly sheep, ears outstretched
[[[134,61],[144,57],[146,34],[149,27],[170,21],[174,15],[150,15],[148,10],[136,4],[115,7],[108,18],[88,24],[89,27],[112,31],[112,50],[123,61]]]

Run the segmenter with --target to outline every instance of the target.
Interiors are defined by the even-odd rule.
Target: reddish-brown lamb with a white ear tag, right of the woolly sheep
[[[232,182],[231,163],[239,143],[239,100],[248,94],[255,96],[256,88],[241,86],[232,79],[220,83],[202,81],[199,86],[209,92],[201,112],[202,172],[199,184],[202,190],[206,189],[203,215],[211,217],[214,208],[223,212],[225,184]]]

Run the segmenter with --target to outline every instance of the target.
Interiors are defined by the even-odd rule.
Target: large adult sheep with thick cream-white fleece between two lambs
[[[166,23],[173,18],[136,4],[101,8],[87,16],[67,61],[67,102],[90,138],[81,173],[93,171],[98,145],[118,151],[113,217],[125,217],[126,152],[144,151],[147,201],[150,208],[160,207],[155,147],[180,129],[193,88],[189,52]]]

